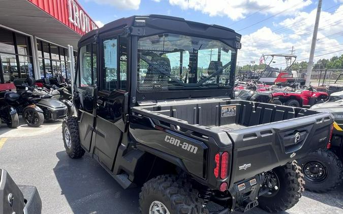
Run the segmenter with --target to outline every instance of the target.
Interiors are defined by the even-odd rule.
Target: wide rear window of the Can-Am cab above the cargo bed
[[[164,33],[138,41],[138,90],[230,86],[235,51],[210,39]],[[232,70],[232,72],[230,72]]]

